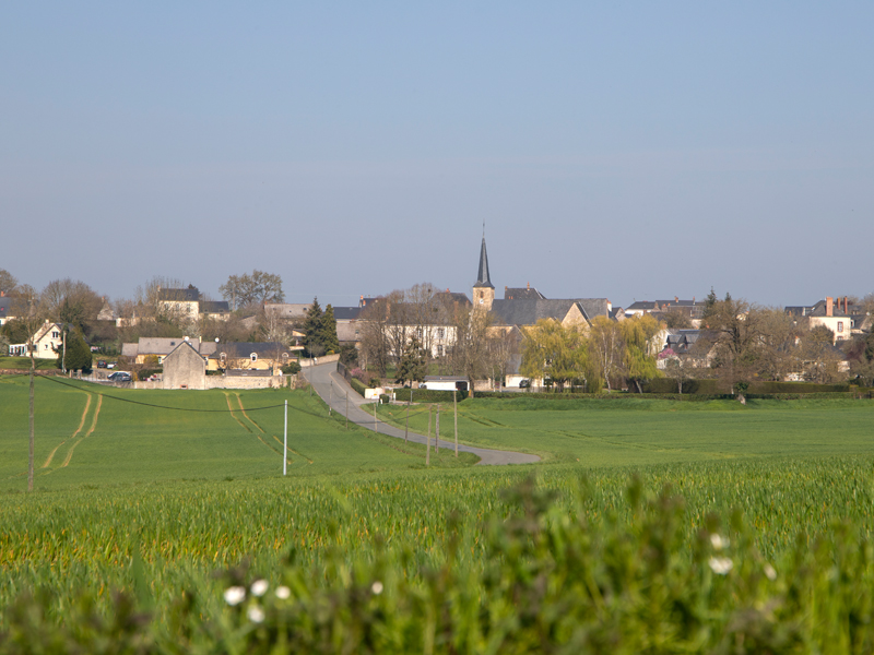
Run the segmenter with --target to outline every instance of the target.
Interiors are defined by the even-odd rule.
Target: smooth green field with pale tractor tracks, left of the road
[[[0,492],[25,488],[27,394],[26,378],[0,382]],[[37,379],[35,395],[37,490],[279,475],[286,400],[292,476],[404,469],[425,461],[423,446],[354,425],[346,430],[304,391],[138,392]],[[474,462],[441,456],[434,464]]]

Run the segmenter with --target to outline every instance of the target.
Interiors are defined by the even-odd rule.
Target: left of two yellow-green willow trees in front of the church
[[[574,380],[592,379],[588,344],[577,326],[564,326],[553,319],[541,319],[535,325],[523,329],[522,366],[528,378],[548,378],[564,391]],[[599,378],[600,381],[600,378]]]

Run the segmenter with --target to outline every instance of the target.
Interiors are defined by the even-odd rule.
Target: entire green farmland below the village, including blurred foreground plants
[[[87,651],[111,634],[121,650],[116,624],[63,626],[118,620],[125,590],[155,617],[153,652],[524,652],[583,639],[583,626],[586,640],[610,628],[627,652],[671,652],[635,641],[660,631],[694,652],[736,646],[741,616],[760,623],[744,623],[746,652],[874,646],[866,401],[464,401],[461,441],[544,462],[472,467],[441,451],[425,468],[422,446],[346,430],[306,392],[37,384],[26,495],[26,379],[0,380],[0,641],[11,630],[36,650],[26,640],[54,634]],[[285,400],[287,478],[274,407]],[[404,407],[380,412],[403,425]],[[427,431],[427,406],[411,408],[411,428]],[[269,597],[227,600],[258,579]],[[286,587],[293,605],[273,595]],[[525,605],[540,608],[531,623]]]

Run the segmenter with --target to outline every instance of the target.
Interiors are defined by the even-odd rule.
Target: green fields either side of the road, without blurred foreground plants
[[[293,451],[290,476],[282,478],[283,415],[275,405],[285,400]],[[427,431],[426,409],[411,412],[417,431]],[[451,406],[444,410],[441,439],[450,441]],[[405,408],[380,412],[401,425]],[[658,526],[677,521],[676,535],[664,538],[674,539],[676,567],[697,575],[701,534],[720,525],[713,516],[721,517],[719,529],[732,543],[739,575],[742,557],[771,562],[781,573],[819,571],[804,553],[819,552],[818,544],[838,544],[836,535],[874,561],[874,549],[863,547],[874,535],[874,403],[867,401],[751,402],[746,407],[640,398],[464,401],[461,441],[536,452],[544,462],[474,468],[470,457],[456,461],[444,451],[430,469],[424,467],[422,446],[356,426],[346,430],[342,417],[328,418],[324,405],[300,391],[133,392],[38,380],[36,418],[37,492],[25,495],[27,381],[0,380],[0,631],[17,616],[9,608],[22,593],[46,590],[40,611],[54,623],[79,611],[82,594],[98,614],[115,611],[111,591],[122,588],[154,608],[162,618],[158,632],[170,630],[179,599],[190,593],[200,617],[191,621],[237,634],[228,628],[236,615],[228,614],[222,596],[228,577],[214,573],[241,562],[232,577],[264,576],[271,584],[294,586],[290,581],[296,576],[311,576],[295,594],[303,598],[324,587],[334,590],[334,599],[338,590],[355,587],[353,569],[356,575],[406,581],[412,591],[404,593],[418,598],[432,588],[427,571],[451,567],[463,580],[451,583],[451,600],[435,596],[435,607],[462,603],[465,594],[480,597],[493,563],[511,561],[507,553],[496,556],[495,548],[516,537],[495,537],[487,526],[511,525],[520,503],[504,490],[532,473],[540,489],[554,495],[550,525],[584,519],[586,534],[626,531],[617,551],[626,552],[629,544],[640,548],[636,556],[627,550],[629,562],[651,557]],[[653,519],[656,527],[647,527],[628,501],[637,478],[651,499],[665,487],[681,495],[681,513],[659,510],[663,515]],[[528,507],[524,502],[521,507]],[[736,511],[742,523],[730,521]],[[823,558],[823,584],[832,588],[829,567],[850,564],[836,560],[838,555]],[[378,573],[386,561],[391,576]],[[557,571],[566,563],[551,565]],[[870,563],[859,565],[852,574],[841,569],[847,580],[874,574]],[[623,567],[635,570],[631,563]],[[627,571],[622,575],[630,577],[619,576],[623,584],[637,584]],[[550,584],[559,593],[569,583]],[[640,591],[640,597],[649,597],[652,580],[640,584],[650,590]],[[696,584],[675,581],[669,587]],[[740,586],[728,598],[746,597],[755,586],[741,577],[732,584]],[[822,593],[864,596],[862,587],[852,593],[828,588]],[[790,598],[800,592],[790,585],[781,593]],[[306,608],[310,600],[300,603]],[[799,611],[812,611],[805,607]],[[307,612],[317,616],[321,610],[314,608],[315,614]],[[720,621],[735,624],[728,615]],[[425,618],[414,622],[427,623]],[[179,634],[161,639],[172,643]]]

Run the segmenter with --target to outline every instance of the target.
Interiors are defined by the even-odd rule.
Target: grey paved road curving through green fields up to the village
[[[374,401],[365,401],[346,383],[346,381],[343,379],[343,376],[336,372],[336,362],[323,364],[312,368],[305,368],[304,377],[307,379],[307,381],[309,381],[310,384],[312,384],[312,389],[326,403],[330,402],[331,407],[333,407],[333,410],[338,414],[345,414],[346,394],[349,394],[350,420],[354,420],[358,425],[370,430],[375,428],[373,413],[368,414],[362,407],[362,405],[371,406]],[[451,414],[447,414],[446,416],[451,420]],[[381,420],[376,421],[376,428],[380,434],[388,434],[389,437],[403,439],[403,430],[390,426]],[[410,441],[415,441],[416,443],[422,443],[424,445],[424,443],[427,441],[427,438],[424,434],[410,432]],[[453,450],[454,446],[454,441],[440,441],[440,448],[442,449],[448,448]],[[473,448],[472,445],[463,445],[461,443],[459,443],[458,450],[459,452],[463,453],[473,453],[480,457],[477,465],[531,464],[533,462],[540,462],[540,457],[538,455],[516,453],[512,451],[489,450],[487,448]]]

